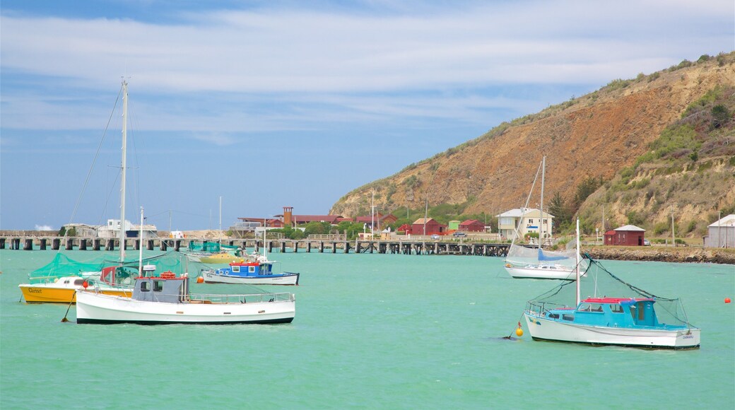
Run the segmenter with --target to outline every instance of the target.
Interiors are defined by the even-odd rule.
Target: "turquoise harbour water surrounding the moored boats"
[[[501,339],[553,282],[492,257],[276,253],[301,272],[271,288],[295,292],[293,323],[83,326],[73,307],[61,323],[67,306],[18,303],[53,256],[0,251],[2,409],[735,408],[733,265],[603,262],[702,328],[699,350],[649,351]]]

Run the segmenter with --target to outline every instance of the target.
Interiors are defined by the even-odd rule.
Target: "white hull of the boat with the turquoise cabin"
[[[654,349],[695,349],[700,345],[698,328],[610,328],[549,320],[528,311],[523,315],[534,340]]]

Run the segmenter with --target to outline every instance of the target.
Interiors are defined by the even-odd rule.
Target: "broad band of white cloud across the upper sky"
[[[732,38],[732,30],[692,35],[723,21],[721,12],[731,16],[729,1],[471,7],[416,17],[222,10],[165,25],[4,15],[2,64],[97,84],[130,73],[141,86],[159,90],[358,92],[537,79],[599,82],[631,75],[632,65],[661,69],[661,60],[678,62],[689,49],[716,52],[703,43],[729,45]],[[686,26],[674,25],[682,21]]]

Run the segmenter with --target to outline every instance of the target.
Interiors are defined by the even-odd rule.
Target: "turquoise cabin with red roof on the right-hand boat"
[[[658,327],[655,301],[650,298],[587,298],[577,309],[553,309],[545,314],[553,320],[568,320],[589,326],[618,328]]]

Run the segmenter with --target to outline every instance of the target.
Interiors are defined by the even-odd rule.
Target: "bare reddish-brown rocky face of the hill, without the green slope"
[[[544,155],[545,200],[556,192],[571,198],[584,179],[612,181],[620,170],[634,165],[693,101],[718,85],[735,86],[734,61],[735,53],[731,53],[635,80],[611,82],[587,96],[503,123],[475,140],[360,187],[340,198],[331,213],[354,216],[369,209],[365,201],[370,201],[370,191],[375,190],[381,209],[419,208],[428,198],[432,205],[469,201],[467,213],[498,214],[526,201]],[[722,171],[732,176],[731,162],[725,159],[723,163]],[[735,199],[734,192],[730,184],[718,196],[727,201]],[[532,200],[531,206],[538,201]],[[610,215],[625,215],[625,209],[609,206]],[[717,204],[703,207],[708,206]]]

